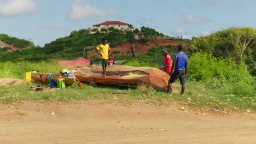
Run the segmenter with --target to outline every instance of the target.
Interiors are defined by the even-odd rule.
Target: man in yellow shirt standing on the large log
[[[96,47],[96,50],[95,50],[98,55],[101,56],[101,64],[102,64],[102,69],[103,69],[103,73],[102,73],[102,76],[106,76],[106,68],[108,66],[108,57],[110,55],[110,47],[109,45],[107,44],[107,40],[106,38],[103,38],[102,39],[102,44],[98,45]]]

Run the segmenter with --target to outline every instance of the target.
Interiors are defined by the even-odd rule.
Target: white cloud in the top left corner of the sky
[[[18,16],[36,10],[37,4],[33,0],[7,0],[0,2],[0,16]]]

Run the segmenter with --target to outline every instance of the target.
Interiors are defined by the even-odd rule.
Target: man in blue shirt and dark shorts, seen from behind
[[[185,78],[187,78],[188,56],[183,53],[184,47],[180,45],[178,52],[174,54],[170,79],[168,81],[167,93],[172,93],[172,83],[178,78],[182,85],[182,95],[185,91]],[[174,69],[174,71],[173,71]]]

